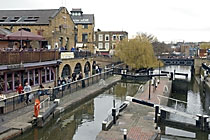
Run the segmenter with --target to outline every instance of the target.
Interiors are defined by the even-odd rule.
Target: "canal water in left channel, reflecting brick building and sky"
[[[15,140],[94,140],[113,100],[122,103],[126,96],[134,96],[139,86],[138,83],[119,82],[77,109],[65,111],[44,128],[34,128]]]

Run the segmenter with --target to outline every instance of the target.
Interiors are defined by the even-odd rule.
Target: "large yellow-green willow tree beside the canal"
[[[134,39],[123,40],[116,47],[116,56],[133,69],[158,67],[150,39],[138,34]],[[160,62],[161,66],[163,65]]]

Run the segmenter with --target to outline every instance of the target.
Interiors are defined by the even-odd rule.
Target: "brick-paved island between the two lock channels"
[[[171,81],[167,78],[161,78],[156,90],[154,87],[151,87],[150,100],[148,99],[148,83],[144,85],[144,90],[139,90],[134,97],[155,104],[166,104],[167,101],[161,98],[159,100],[158,95],[169,96]],[[117,124],[113,125],[108,131],[101,131],[96,137],[96,140],[122,140],[123,129],[127,129],[127,140],[153,140],[159,134],[159,131],[155,129],[154,116],[154,108],[130,103],[120,114]]]

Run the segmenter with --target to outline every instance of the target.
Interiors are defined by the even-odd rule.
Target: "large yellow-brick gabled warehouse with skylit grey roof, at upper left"
[[[0,10],[0,26],[11,32],[24,29],[41,35],[49,48],[74,47],[74,22],[65,7],[42,10]]]

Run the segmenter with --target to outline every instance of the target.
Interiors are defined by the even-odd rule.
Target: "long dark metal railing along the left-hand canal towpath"
[[[61,98],[66,94],[71,94],[73,92],[81,90],[82,88],[91,86],[99,82],[101,79],[105,80],[111,75],[112,70],[109,70],[75,82],[67,83],[59,87],[54,87],[52,89],[37,89],[28,93],[2,99],[0,100],[0,114],[9,113],[17,109],[23,108],[25,106],[34,104],[36,98],[39,98],[40,101],[44,101],[46,98],[48,98],[48,95],[50,96],[51,100],[54,100],[55,98]],[[28,104],[26,104],[25,102],[27,97],[31,99],[31,101]]]

